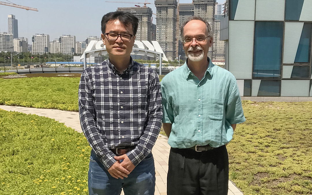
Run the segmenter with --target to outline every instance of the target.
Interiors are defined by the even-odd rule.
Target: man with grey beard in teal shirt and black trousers
[[[171,146],[167,194],[227,195],[226,144],[245,121],[236,79],[207,57],[207,21],[190,17],[181,38],[188,59],[161,81],[163,129]]]

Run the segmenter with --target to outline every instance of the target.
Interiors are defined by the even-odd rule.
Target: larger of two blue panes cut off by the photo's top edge
[[[299,21],[305,0],[286,0],[285,20]]]

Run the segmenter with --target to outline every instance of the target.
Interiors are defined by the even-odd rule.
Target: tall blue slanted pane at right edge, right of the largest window
[[[310,62],[311,27],[312,23],[305,22],[305,24],[303,25],[295,63]]]

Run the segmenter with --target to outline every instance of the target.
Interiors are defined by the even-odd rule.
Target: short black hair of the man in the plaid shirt
[[[139,19],[129,12],[109,12],[102,17],[101,31],[105,33],[106,24],[109,21],[119,20],[124,26],[132,26],[133,35],[136,34],[139,25]]]

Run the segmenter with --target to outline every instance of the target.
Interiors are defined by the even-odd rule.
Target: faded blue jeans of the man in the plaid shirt
[[[90,195],[120,195],[121,188],[125,195],[148,194],[155,192],[155,166],[153,154],[144,158],[128,175],[128,178],[116,179],[100,163],[91,150],[88,187]]]

